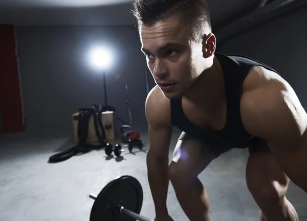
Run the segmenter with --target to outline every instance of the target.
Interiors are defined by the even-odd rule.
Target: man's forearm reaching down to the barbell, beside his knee
[[[157,158],[147,155],[148,181],[155,204],[156,215],[167,214],[168,157]]]

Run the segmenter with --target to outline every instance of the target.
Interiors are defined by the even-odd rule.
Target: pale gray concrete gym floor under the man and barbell
[[[173,134],[170,157],[179,134]],[[141,137],[146,150],[146,131]],[[135,149],[134,154],[123,153],[123,158],[116,159],[107,158],[104,151],[93,151],[60,163],[47,162],[54,153],[73,145],[69,136],[58,134],[0,135],[0,220],[89,220],[93,200],[88,195],[98,194],[109,181],[122,175],[140,181],[144,192],[141,215],[154,218],[145,152]],[[259,220],[259,209],[245,182],[247,157],[247,150],[230,151],[199,176],[209,193],[211,220]],[[291,183],[287,198],[300,220],[307,221],[307,194]],[[175,221],[188,220],[171,185],[167,202]]]

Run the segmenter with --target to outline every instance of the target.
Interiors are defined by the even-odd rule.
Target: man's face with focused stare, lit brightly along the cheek
[[[174,15],[152,27],[141,26],[142,51],[157,85],[168,99],[183,96],[204,71],[202,42]]]

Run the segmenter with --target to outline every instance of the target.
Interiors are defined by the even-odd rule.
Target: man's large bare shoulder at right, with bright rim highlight
[[[250,71],[243,84],[240,111],[246,130],[256,136],[265,136],[265,128],[277,127],[286,119],[293,125],[305,119],[305,111],[290,84],[276,72],[260,66]]]

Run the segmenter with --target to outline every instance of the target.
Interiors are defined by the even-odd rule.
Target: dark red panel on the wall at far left
[[[10,24],[0,24],[0,106],[2,133],[24,132],[14,26]]]

